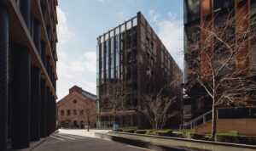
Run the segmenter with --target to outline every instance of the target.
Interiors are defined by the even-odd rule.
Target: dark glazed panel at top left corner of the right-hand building
[[[184,0],[184,24],[200,19],[200,0]]]

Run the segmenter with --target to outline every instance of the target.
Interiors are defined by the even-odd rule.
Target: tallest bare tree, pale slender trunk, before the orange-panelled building
[[[206,17],[189,35],[187,89],[200,87],[197,90],[211,98],[212,137],[216,135],[218,106],[248,105],[255,100],[256,73],[250,65],[249,49],[256,25],[245,8]]]

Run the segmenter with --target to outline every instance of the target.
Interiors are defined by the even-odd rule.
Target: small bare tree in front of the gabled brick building
[[[96,103],[90,98],[83,98],[83,103],[79,106],[81,119],[87,120],[87,131],[90,129],[90,122],[93,117],[96,116]]]

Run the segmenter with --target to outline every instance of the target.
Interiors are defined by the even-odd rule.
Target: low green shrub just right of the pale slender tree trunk
[[[215,141],[225,143],[239,143],[238,131],[218,133],[215,137]]]

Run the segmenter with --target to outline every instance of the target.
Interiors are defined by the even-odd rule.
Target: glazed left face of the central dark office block
[[[131,23],[132,22],[132,23]],[[134,24],[136,23],[136,24]],[[107,82],[124,82],[125,83],[125,53],[131,49],[131,31],[136,33],[137,17],[126,21],[124,24],[119,25],[108,33],[98,38],[97,44],[97,111],[109,112],[104,109],[106,105],[100,101],[101,95],[106,91],[108,86]],[[125,38],[126,36],[126,38]],[[128,40],[129,39],[129,40]],[[130,43],[126,43],[129,41]],[[137,42],[137,36],[133,36],[132,41]],[[133,47],[134,48],[134,47]],[[129,50],[130,51],[130,50]],[[135,54],[136,56],[136,54]],[[131,64],[130,66],[134,66]],[[133,67],[136,68],[136,67]],[[137,70],[137,69],[134,69]],[[128,98],[131,99],[131,98]],[[131,102],[131,101],[130,101]],[[129,111],[128,111],[129,112]],[[98,128],[108,128],[113,126],[113,115],[100,115],[97,117]],[[119,126],[136,126],[136,117],[134,115],[125,115],[120,113],[117,116],[117,123]]]

